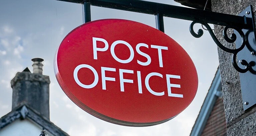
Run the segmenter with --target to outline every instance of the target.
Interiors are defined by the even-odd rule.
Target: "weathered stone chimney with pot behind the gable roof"
[[[42,75],[43,59],[34,58],[33,73],[28,68],[11,80],[12,110],[26,104],[49,120],[49,76]]]

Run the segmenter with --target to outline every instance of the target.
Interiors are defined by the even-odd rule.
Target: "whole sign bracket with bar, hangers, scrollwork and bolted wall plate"
[[[248,6],[238,16],[185,8],[142,0],[59,0],[72,3],[83,4],[84,22],[91,21],[90,6],[105,7],[111,9],[132,11],[155,15],[156,28],[164,32],[164,17],[184,19],[192,21],[190,33],[199,38],[203,35],[203,30],[199,29],[196,33],[193,29],[196,23],[204,25],[209,31],[214,42],[222,50],[232,53],[233,67],[240,73],[242,97],[244,110],[256,104],[256,44],[254,33],[253,12]],[[209,24],[225,26],[223,37],[229,43],[236,43],[236,49],[225,47],[216,37]],[[234,33],[229,37],[227,31],[233,29]],[[236,61],[238,57],[239,63]],[[249,63],[248,63],[249,62]],[[244,67],[244,68],[241,68]],[[254,70],[255,69],[255,70]]]

